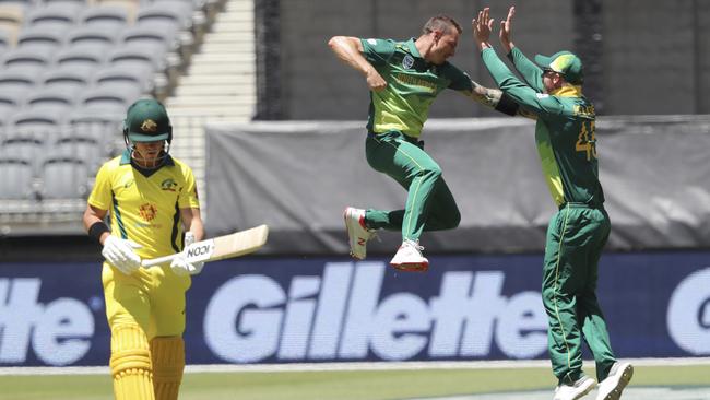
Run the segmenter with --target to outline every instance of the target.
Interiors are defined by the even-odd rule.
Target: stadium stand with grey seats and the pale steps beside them
[[[233,3],[237,19],[230,16]],[[252,13],[251,0],[1,1],[0,170],[17,173],[3,186],[2,199],[12,201],[0,207],[0,225],[17,214],[24,222],[73,221],[96,168],[123,149],[121,120],[141,96],[174,104],[175,110],[168,105],[174,125],[186,129],[180,142],[199,144],[171,153],[202,170],[205,119],[196,116],[205,95],[214,96],[190,80],[210,80],[208,86],[218,90],[234,86],[218,64],[240,63],[227,37],[234,37],[235,25],[253,36]],[[205,40],[212,44],[203,47]],[[203,48],[212,56],[196,58]],[[252,50],[247,63],[253,63]],[[205,67],[192,68],[192,60]],[[190,90],[177,93],[182,82],[199,95],[186,101]],[[228,119],[229,102],[214,117]],[[236,113],[237,120],[251,115]]]

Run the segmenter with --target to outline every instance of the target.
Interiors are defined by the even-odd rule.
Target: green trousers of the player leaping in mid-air
[[[461,214],[439,165],[423,150],[423,142],[399,131],[369,133],[365,142],[367,163],[407,190],[404,210],[368,209],[370,228],[402,231],[402,239],[418,240],[423,231],[459,226]]]

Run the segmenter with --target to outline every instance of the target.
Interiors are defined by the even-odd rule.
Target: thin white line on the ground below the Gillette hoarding
[[[710,365],[710,357],[694,358],[624,358],[637,366]],[[585,361],[592,363],[593,361]],[[484,369],[541,368],[546,360],[521,361],[453,361],[453,362],[372,362],[372,363],[294,363],[294,364],[210,364],[188,365],[186,373],[274,373],[318,370],[392,370],[392,369]],[[108,366],[69,367],[0,367],[0,375],[96,375],[109,374]]]

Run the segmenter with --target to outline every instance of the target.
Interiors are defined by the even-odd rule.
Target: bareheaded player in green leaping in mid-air
[[[367,242],[378,228],[402,232],[402,246],[390,264],[403,271],[426,271],[428,260],[418,244],[424,231],[459,225],[459,208],[439,165],[419,141],[429,106],[445,89],[514,115],[517,104],[473,82],[447,61],[455,52],[461,26],[451,17],[431,17],[418,38],[405,42],[335,36],[329,46],[362,72],[370,89],[365,154],[368,164],[407,190],[403,210],[345,209],[351,255],[365,259]]]

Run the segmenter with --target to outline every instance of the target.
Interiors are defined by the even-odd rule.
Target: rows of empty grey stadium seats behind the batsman
[[[0,198],[85,198],[126,108],[169,93],[221,1],[0,1]]]

